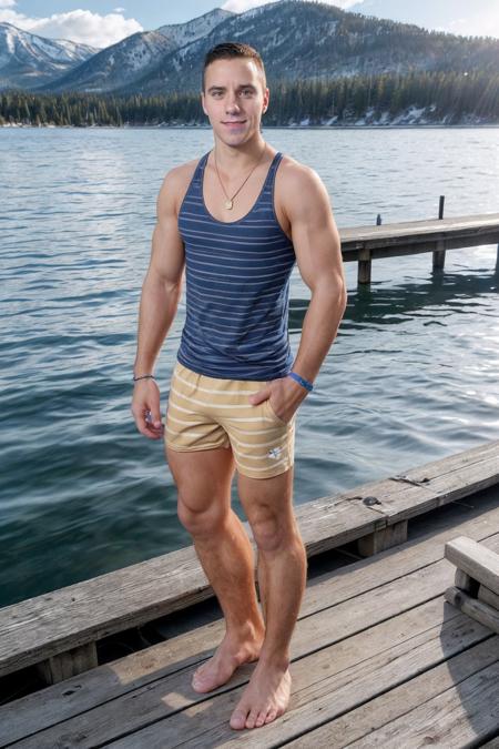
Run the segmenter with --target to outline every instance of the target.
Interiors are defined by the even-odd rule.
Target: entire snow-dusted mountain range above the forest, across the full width
[[[458,37],[326,3],[278,0],[243,13],[215,8],[186,23],[134,33],[103,50],[0,23],[0,89],[115,94],[198,91],[203,58],[221,41],[255,47],[268,82],[499,70],[499,40],[490,37]]]

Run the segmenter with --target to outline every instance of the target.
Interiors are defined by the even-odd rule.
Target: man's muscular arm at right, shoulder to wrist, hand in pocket
[[[312,169],[292,169],[295,176],[287,183],[285,206],[298,270],[312,291],[293,370],[313,381],[336,337],[347,293],[340,239],[327,190]]]

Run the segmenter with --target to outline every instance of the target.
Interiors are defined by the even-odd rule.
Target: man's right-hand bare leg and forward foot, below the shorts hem
[[[293,468],[267,479],[240,476],[240,496],[258,546],[258,580],[266,634],[258,664],[235,707],[231,726],[268,723],[287,708],[289,642],[306,585],[306,551],[293,514]]]

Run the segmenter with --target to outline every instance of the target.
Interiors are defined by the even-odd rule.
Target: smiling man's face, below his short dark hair
[[[201,94],[204,113],[215,134],[227,145],[238,145],[259,132],[268,105],[259,68],[251,59],[215,60],[204,72]]]

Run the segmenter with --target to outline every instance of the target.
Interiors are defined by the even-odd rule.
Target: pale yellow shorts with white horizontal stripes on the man
[[[268,478],[294,464],[296,412],[288,423],[268,398],[256,406],[249,395],[264,381],[208,377],[176,361],[165,414],[165,444],[174,451],[232,447],[238,473]]]

